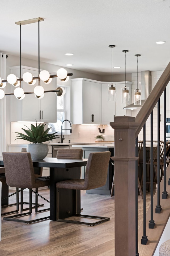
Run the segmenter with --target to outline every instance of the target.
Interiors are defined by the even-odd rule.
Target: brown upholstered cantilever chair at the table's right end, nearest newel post
[[[88,161],[86,165],[86,175],[85,179],[71,179],[64,180],[56,183],[57,188],[57,221],[86,224],[94,226],[106,220],[108,217],[100,216],[90,216],[77,214],[77,190],[89,190],[104,186],[107,180],[108,165],[110,160],[111,152],[94,152],[90,153],[88,156]],[[59,219],[59,192],[60,188],[72,189],[75,191],[75,201],[74,201],[74,213],[75,216],[97,219],[95,222],[81,222],[70,219]]]

